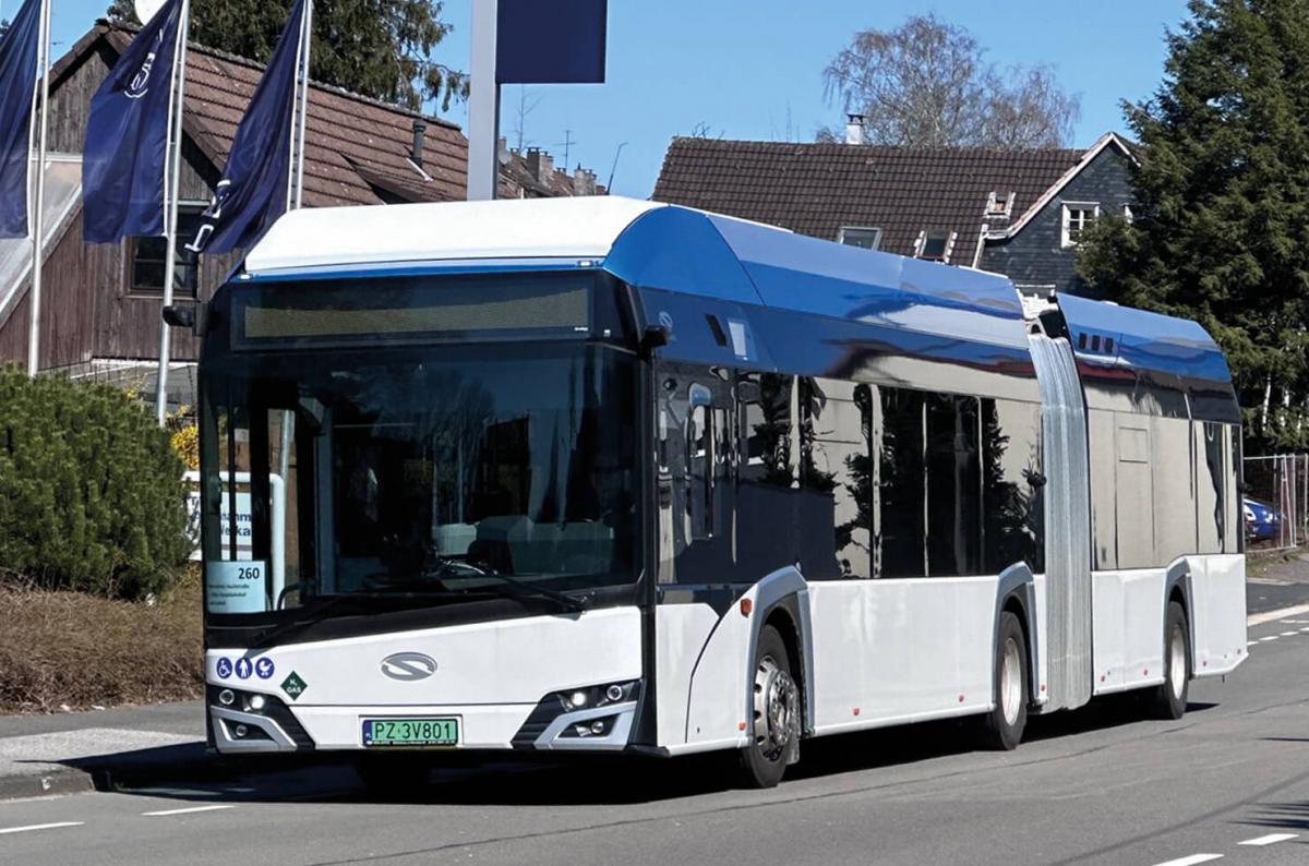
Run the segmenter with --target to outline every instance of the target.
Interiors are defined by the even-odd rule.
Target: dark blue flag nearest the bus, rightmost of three
[[[268,68],[232,139],[232,153],[213,190],[213,201],[200,216],[195,239],[186,247],[192,252],[250,249],[287,209],[304,16],[305,0],[296,0],[268,58]]]

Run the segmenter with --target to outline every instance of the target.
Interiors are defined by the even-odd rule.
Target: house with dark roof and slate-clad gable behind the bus
[[[860,143],[673,139],[654,199],[842,243],[982,268],[1026,292],[1083,292],[1081,232],[1131,218],[1132,150],[1109,132],[1086,150],[894,148]]]

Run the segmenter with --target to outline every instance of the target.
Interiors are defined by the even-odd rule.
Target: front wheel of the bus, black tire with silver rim
[[[787,764],[800,759],[800,688],[787,644],[772,625],[759,632],[751,670],[755,712],[751,742],[741,750],[741,777],[747,788],[775,788]]]

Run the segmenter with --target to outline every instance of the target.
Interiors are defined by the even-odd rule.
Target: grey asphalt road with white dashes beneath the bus
[[[1011,753],[958,723],[829,738],[770,791],[687,759],[448,769],[395,802],[343,767],[13,801],[0,863],[1305,863],[1309,614],[1285,620],[1178,722],[1114,700]]]

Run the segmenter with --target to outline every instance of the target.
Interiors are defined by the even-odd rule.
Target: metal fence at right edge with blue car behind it
[[[1245,472],[1246,547],[1274,551],[1309,539],[1309,454],[1247,457]]]

